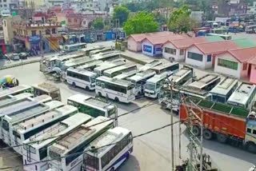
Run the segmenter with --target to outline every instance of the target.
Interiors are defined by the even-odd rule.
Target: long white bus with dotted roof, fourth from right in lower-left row
[[[29,119],[14,125],[13,131],[10,132],[10,139],[12,140],[11,145],[22,145],[22,142],[26,139],[40,133],[43,129],[47,129],[59,121],[65,120],[75,113],[78,113],[76,107],[72,105],[64,105],[47,113],[30,117]],[[22,146],[14,148],[14,151],[22,154]]]

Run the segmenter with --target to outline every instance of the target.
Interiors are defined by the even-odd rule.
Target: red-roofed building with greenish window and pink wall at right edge
[[[256,83],[256,47],[227,50],[216,55],[214,72]]]

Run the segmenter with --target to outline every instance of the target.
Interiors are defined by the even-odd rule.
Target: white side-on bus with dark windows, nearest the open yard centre
[[[96,94],[98,96],[114,99],[124,103],[135,100],[135,85],[126,80],[107,78],[105,76],[96,79]]]

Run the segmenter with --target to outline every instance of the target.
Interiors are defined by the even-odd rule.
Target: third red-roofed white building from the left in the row
[[[169,61],[183,62],[185,60],[186,48],[193,44],[218,41],[223,41],[223,39],[218,36],[209,36],[167,41],[162,46],[162,57]]]

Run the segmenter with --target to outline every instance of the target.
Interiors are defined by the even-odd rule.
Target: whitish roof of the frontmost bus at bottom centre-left
[[[114,129],[108,129],[106,133],[103,133],[101,136],[97,137],[94,141],[90,142],[90,145],[85,150],[96,149],[95,155],[97,157],[102,157],[106,152],[113,148],[114,144],[120,140],[122,137],[125,137],[130,130],[124,129],[122,127],[115,127]],[[86,153],[92,153],[90,151]]]

